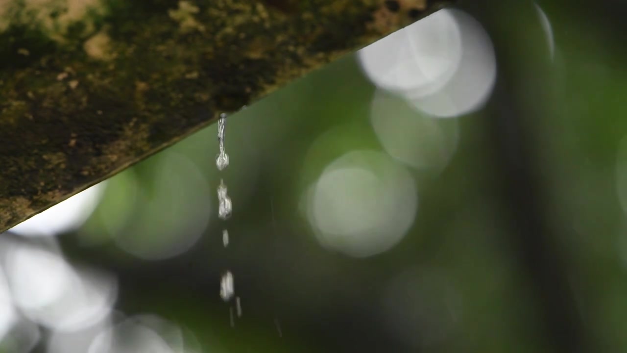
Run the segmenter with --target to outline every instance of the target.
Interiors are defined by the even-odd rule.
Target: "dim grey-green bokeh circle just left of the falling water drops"
[[[139,185],[134,192],[141,209],[110,231],[115,244],[137,258],[160,260],[185,253],[208,226],[213,192],[184,155],[166,153],[154,170],[152,187]]]

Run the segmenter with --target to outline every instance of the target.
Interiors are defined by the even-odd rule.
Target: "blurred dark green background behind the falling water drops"
[[[185,352],[624,352],[627,4],[460,8],[494,46],[485,106],[431,117],[343,58],[229,116],[223,172],[214,125],[108,180],[63,254],[112,274],[116,315],[183,328]]]

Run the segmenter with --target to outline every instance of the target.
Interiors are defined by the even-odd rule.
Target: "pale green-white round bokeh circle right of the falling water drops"
[[[320,244],[358,258],[398,244],[418,207],[411,174],[377,151],[341,156],[303,197]]]

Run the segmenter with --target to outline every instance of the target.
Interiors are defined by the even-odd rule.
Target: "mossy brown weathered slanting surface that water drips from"
[[[0,231],[447,3],[0,0]]]

